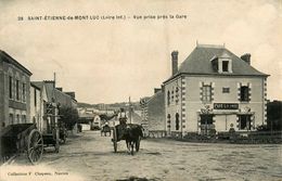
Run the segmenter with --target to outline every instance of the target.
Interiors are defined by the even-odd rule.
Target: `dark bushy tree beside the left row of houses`
[[[74,107],[59,107],[60,120],[65,124],[66,129],[72,130],[78,120],[78,112]]]

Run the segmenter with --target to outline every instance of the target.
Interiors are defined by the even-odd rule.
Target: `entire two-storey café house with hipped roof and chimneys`
[[[266,124],[268,75],[251,66],[251,54],[197,44],[179,69],[174,51],[171,64],[164,82],[168,133],[248,131]]]

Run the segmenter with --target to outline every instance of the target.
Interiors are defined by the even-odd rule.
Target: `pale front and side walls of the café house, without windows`
[[[204,104],[201,100],[201,87],[202,82],[211,85],[214,91],[213,99],[209,104]],[[251,101],[242,103],[239,101],[239,83],[249,83],[251,86]],[[238,112],[249,107],[254,113],[253,122],[254,128],[266,124],[266,80],[264,77],[235,77],[235,76],[185,76],[178,77],[170,80],[165,85],[165,107],[166,107],[166,130],[178,132],[191,132],[200,131],[198,120],[201,108],[205,105],[209,105],[213,112],[216,114],[214,117],[214,125],[217,131],[227,131],[230,129],[230,125],[234,125],[234,129],[239,130],[238,126]],[[171,91],[179,87],[181,89],[179,93],[179,102],[170,99],[170,105],[168,105],[167,91]],[[230,88],[229,93],[222,93],[222,88]],[[175,94],[175,91],[174,91]],[[214,103],[236,103],[239,109],[215,109]],[[179,114],[180,128],[176,130],[176,114]],[[170,114],[170,128],[168,127],[167,115]],[[182,121],[181,121],[182,120]]]

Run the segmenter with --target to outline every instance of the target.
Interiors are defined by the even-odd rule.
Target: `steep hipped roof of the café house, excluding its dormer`
[[[228,54],[232,60],[232,73],[220,74],[215,72],[211,66],[210,60]],[[171,76],[165,82],[181,75],[220,75],[220,76],[269,76],[264,74],[253,66],[248,65],[245,61],[236,56],[222,46],[197,46],[190,55],[180,65],[177,74]]]

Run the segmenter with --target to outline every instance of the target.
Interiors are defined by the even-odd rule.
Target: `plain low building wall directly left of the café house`
[[[150,137],[161,137],[165,129],[165,95],[162,89],[155,89],[154,95],[141,99],[142,125]],[[159,135],[161,134],[161,135]]]

